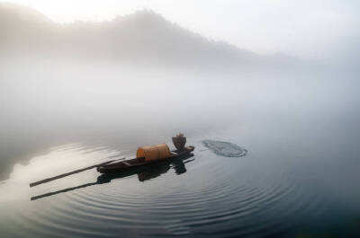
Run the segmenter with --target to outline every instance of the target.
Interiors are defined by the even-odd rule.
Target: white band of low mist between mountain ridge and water
[[[166,141],[179,131],[191,137],[246,120],[329,119],[356,105],[350,80],[319,72],[301,78],[23,57],[3,59],[0,76],[2,162],[44,145],[132,149],[157,143],[154,134]]]

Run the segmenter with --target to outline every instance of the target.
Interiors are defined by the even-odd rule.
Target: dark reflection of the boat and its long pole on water
[[[102,174],[99,177],[97,177],[97,181],[95,181],[95,182],[89,182],[89,183],[85,183],[85,184],[82,184],[82,185],[79,185],[76,187],[72,187],[72,188],[68,188],[65,190],[58,190],[58,191],[41,194],[39,196],[31,197],[30,199],[32,201],[32,200],[36,200],[36,199],[40,199],[40,198],[47,198],[47,197],[50,197],[53,195],[57,195],[59,193],[83,189],[83,188],[98,185],[98,184],[109,183],[112,180],[129,177],[134,174],[138,174],[139,181],[148,181],[151,179],[155,179],[158,176],[160,176],[161,174],[168,172],[171,168],[173,168],[175,170],[176,174],[180,175],[180,174],[186,172],[185,163],[192,162],[194,160],[194,158],[191,159],[192,157],[193,157],[193,153],[190,153],[190,154],[186,154],[182,157],[176,157],[171,160],[166,160],[163,163],[148,165],[147,167],[133,169],[128,172],[116,172],[116,173],[110,173],[110,174]]]

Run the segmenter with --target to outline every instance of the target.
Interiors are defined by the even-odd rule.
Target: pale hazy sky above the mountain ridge
[[[324,57],[358,31],[356,0],[10,0],[55,22],[103,21],[148,8],[211,40],[258,53]]]

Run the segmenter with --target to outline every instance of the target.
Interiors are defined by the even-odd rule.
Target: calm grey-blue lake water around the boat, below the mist
[[[183,160],[30,189],[30,181],[131,154],[105,143],[51,147],[1,181],[1,237],[360,237],[357,132],[341,117],[244,119],[188,137],[196,148]],[[222,157],[203,139],[248,153]]]

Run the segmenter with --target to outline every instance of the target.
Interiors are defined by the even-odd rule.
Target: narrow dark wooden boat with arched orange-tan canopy
[[[107,163],[97,167],[97,172],[125,172],[149,164],[161,163],[193,152],[194,146],[186,146],[182,150],[170,151],[166,144],[142,146],[136,152],[136,158],[116,163]]]

